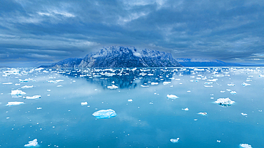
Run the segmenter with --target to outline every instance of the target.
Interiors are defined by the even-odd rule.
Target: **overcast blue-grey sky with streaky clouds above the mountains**
[[[264,63],[261,0],[1,0],[0,65],[39,66],[134,46]]]

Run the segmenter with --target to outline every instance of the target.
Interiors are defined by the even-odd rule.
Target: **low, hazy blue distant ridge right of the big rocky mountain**
[[[238,63],[225,63],[221,60],[208,60],[196,58],[177,58],[176,60],[184,67],[243,66]]]

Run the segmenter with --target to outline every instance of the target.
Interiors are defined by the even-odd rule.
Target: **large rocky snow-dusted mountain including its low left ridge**
[[[171,53],[136,49],[135,47],[109,46],[83,59],[67,58],[41,68],[164,68],[182,66]]]

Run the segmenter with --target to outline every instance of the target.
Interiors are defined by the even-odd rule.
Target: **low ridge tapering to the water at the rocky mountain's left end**
[[[41,65],[40,68],[74,68],[81,63],[82,58],[66,58],[51,65]]]

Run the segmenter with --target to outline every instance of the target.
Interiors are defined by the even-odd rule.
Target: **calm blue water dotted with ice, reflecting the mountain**
[[[264,68],[6,70],[0,73],[1,147],[24,147],[34,139],[39,147],[264,147]],[[26,95],[12,96],[17,89]],[[34,95],[41,98],[23,98]],[[226,97],[235,103],[214,103]],[[6,106],[11,101],[24,104]],[[116,117],[93,117],[108,109]]]

